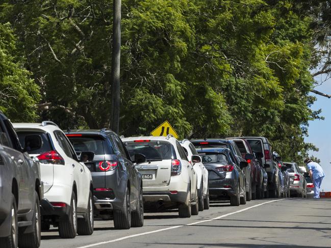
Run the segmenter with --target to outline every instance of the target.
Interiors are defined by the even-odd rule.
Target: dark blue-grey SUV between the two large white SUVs
[[[145,157],[137,154],[131,161],[120,137],[107,128],[72,130],[66,136],[77,155],[91,152],[81,160],[92,174],[94,215],[113,219],[116,229],[143,226],[142,177],[134,162],[144,162]]]

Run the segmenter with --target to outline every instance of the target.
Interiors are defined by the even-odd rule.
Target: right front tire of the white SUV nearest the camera
[[[93,205],[92,192],[90,191],[86,216],[85,218],[77,219],[77,233],[79,235],[92,235],[94,231]]]

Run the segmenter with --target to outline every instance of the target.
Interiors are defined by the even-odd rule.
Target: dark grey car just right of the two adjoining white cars
[[[199,149],[198,154],[208,170],[210,199],[230,200],[232,206],[246,204],[245,176],[241,168],[247,167],[248,163],[241,161],[237,164],[227,148]]]

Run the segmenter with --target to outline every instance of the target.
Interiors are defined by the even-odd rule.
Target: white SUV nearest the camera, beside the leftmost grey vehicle
[[[62,130],[53,122],[14,123],[19,141],[40,162],[44,199],[42,230],[59,227],[62,238],[93,233],[93,185],[90,170],[80,162]],[[34,149],[40,147],[38,149]],[[88,160],[93,153],[87,152]],[[82,157],[82,155],[81,155]]]

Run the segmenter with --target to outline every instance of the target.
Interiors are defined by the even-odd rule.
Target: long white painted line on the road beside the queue
[[[251,207],[248,207],[248,208],[244,208],[244,209],[232,212],[232,213],[223,214],[223,215],[220,215],[220,216],[212,218],[212,219],[205,219],[204,221],[199,221],[199,222],[194,222],[194,223],[190,223],[190,224],[186,224],[186,225],[179,225],[179,226],[173,226],[173,227],[158,229],[158,230],[154,230],[154,231],[150,231],[150,232],[133,234],[133,235],[129,235],[129,236],[113,239],[113,240],[108,240],[108,241],[104,241],[104,242],[99,242],[99,243],[80,246],[78,248],[89,248],[89,247],[93,247],[93,246],[97,246],[97,245],[101,245],[101,244],[114,243],[114,242],[121,241],[121,240],[124,240],[124,239],[134,238],[134,237],[138,237],[138,236],[142,236],[142,235],[146,235],[146,234],[158,233],[158,232],[162,232],[162,231],[166,231],[166,230],[170,230],[170,229],[176,229],[176,228],[180,228],[180,227],[193,226],[193,225],[200,224],[200,223],[211,222],[211,221],[214,221],[215,219],[224,218],[226,216],[233,215],[233,214],[236,214],[236,213],[240,213],[240,212],[246,211],[246,210],[251,209],[251,208],[256,208],[256,207],[262,206],[262,205],[267,204],[267,203],[277,202],[277,201],[281,201],[281,200],[284,200],[284,199],[278,199],[278,200],[273,200],[273,201],[269,201],[269,202],[260,203],[260,204],[257,204],[257,205],[254,205],[254,206],[251,206]]]

